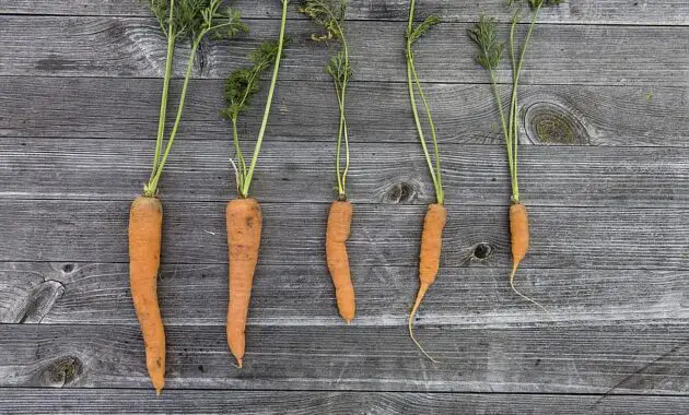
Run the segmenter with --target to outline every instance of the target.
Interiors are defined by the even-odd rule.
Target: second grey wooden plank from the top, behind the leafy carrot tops
[[[0,75],[161,76],[165,40],[152,19],[2,15]],[[275,38],[275,21],[248,22],[255,35],[203,49],[197,78],[224,78],[259,42]],[[428,82],[487,83],[474,60],[467,23],[444,23],[418,46],[421,78]],[[406,80],[401,22],[352,22],[350,44],[358,81]],[[506,29],[506,27],[503,27]],[[525,29],[525,27],[522,27]],[[311,22],[293,21],[283,80],[326,80],[327,48],[311,40]],[[539,26],[524,66],[523,84],[668,85],[689,79],[689,27]],[[60,43],[50,42],[60,38]],[[375,38],[376,42],[371,42]],[[582,47],[586,45],[586,47]],[[457,52],[463,50],[465,52]],[[180,51],[182,56],[183,52]],[[184,72],[177,60],[176,74]],[[504,62],[501,73],[510,72]]]

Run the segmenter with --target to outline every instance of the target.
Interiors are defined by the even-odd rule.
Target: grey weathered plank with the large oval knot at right
[[[0,137],[153,139],[161,81],[154,79],[4,78],[0,82]],[[174,95],[178,84],[173,86]],[[499,116],[488,85],[427,84],[442,144],[498,144]],[[229,140],[219,111],[223,81],[190,83],[179,130],[184,140]],[[94,93],[98,92],[98,93]],[[503,88],[507,93],[506,88]],[[265,93],[265,91],[264,91]],[[524,143],[557,145],[688,146],[684,88],[535,86],[522,88]],[[265,95],[256,97],[262,102]],[[505,95],[506,97],[506,95]],[[49,103],[36,105],[36,103]],[[348,94],[352,145],[418,143],[406,85],[354,83]],[[254,140],[262,108],[241,120]],[[268,139],[332,143],[337,100],[330,83],[280,82]],[[455,151],[451,146],[452,151]],[[462,150],[462,149],[458,149]]]

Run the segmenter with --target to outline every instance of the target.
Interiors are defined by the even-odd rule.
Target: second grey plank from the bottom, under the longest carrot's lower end
[[[652,393],[689,391],[686,324],[247,329],[243,369],[224,327],[167,327],[168,389]],[[150,389],[132,325],[0,325],[0,386]]]

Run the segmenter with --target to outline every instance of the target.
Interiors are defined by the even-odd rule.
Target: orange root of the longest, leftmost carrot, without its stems
[[[157,305],[163,206],[138,197],[129,212],[129,285],[145,345],[145,364],[160,395],[165,386],[165,331]]]

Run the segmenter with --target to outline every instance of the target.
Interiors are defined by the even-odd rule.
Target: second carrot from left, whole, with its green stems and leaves
[[[256,199],[249,198],[248,194],[260,147],[266,135],[270,107],[278,83],[280,59],[287,42],[284,29],[288,3],[289,0],[282,0],[280,38],[277,42],[264,42],[248,56],[253,67],[249,69],[237,69],[227,78],[225,82],[225,107],[221,111],[224,118],[232,121],[232,141],[237,157],[237,163],[234,163],[232,159],[231,163],[235,170],[240,198],[227,203],[225,216],[227,221],[227,254],[230,260],[227,345],[232,355],[237,359],[240,368],[244,359],[246,318],[248,316],[254,273],[258,263],[260,233],[264,221],[260,205]],[[240,143],[237,120],[240,115],[248,108],[252,97],[260,90],[260,75],[270,69],[271,66],[272,78],[264,108],[264,118],[254,146],[254,155],[250,164],[247,165]]]

